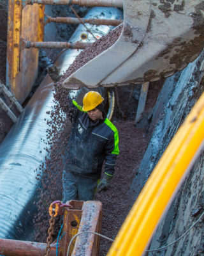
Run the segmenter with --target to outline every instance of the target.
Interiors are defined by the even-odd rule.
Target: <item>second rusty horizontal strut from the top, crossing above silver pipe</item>
[[[84,19],[80,18],[84,23],[89,23],[92,25],[106,25],[106,26],[118,26],[123,22],[123,20],[108,20],[108,19]],[[66,23],[66,24],[80,24],[80,20],[78,18],[72,17],[45,17],[45,25],[50,22],[58,22],[58,23]]]

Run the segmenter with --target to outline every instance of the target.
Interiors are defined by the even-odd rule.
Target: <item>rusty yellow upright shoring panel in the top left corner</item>
[[[23,49],[22,40],[43,41],[44,6],[9,0],[6,86],[22,104],[38,77],[39,49]]]

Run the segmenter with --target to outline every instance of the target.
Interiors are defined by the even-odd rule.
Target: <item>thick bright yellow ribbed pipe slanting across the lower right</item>
[[[204,145],[204,93],[147,180],[107,256],[142,255],[164,210]]]

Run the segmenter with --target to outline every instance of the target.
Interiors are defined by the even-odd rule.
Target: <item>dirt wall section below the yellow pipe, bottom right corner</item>
[[[150,250],[160,248],[166,244],[179,239],[186,230],[198,220],[204,208],[204,154],[194,164],[193,169],[185,180],[182,188],[180,188],[173,204],[166,212],[157,227],[152,238]],[[201,256],[204,255],[204,230],[203,218],[189,230],[186,236],[182,237],[177,243],[159,250],[157,252],[149,252],[148,256]]]

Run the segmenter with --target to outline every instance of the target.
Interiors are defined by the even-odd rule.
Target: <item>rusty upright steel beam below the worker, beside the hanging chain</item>
[[[70,241],[78,232],[91,231],[101,232],[102,204],[98,201],[75,201],[66,202],[73,209],[64,208],[64,226],[66,233],[60,241],[61,253],[69,256],[98,256],[99,236],[94,234],[80,234],[71,244]]]

